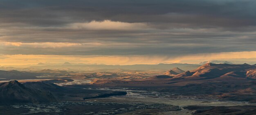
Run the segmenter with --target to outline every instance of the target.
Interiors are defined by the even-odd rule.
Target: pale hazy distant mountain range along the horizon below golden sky
[[[42,69],[52,69],[52,70],[65,70],[74,72],[114,72],[117,69],[122,71],[163,71],[170,68],[178,67],[184,71],[190,71],[204,65],[206,63],[226,63],[234,64],[230,61],[204,61],[198,64],[188,64],[188,63],[172,63],[172,64],[137,64],[137,65],[104,65],[104,64],[83,64],[83,63],[38,63],[37,65],[22,65],[22,66],[1,66],[0,70],[19,70],[19,71],[40,71]],[[175,72],[175,71],[174,71]],[[179,72],[177,72],[179,73]]]

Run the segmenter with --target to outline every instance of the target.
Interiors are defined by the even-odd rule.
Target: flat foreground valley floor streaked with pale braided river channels
[[[79,87],[81,88],[81,87]],[[88,88],[86,88],[88,89]],[[216,99],[198,99],[194,96],[166,94],[127,88],[91,88],[92,90],[126,91],[127,95],[87,100],[61,101],[52,104],[27,104],[0,106],[1,115],[192,115],[200,110],[214,106],[249,106],[256,104],[238,101],[220,101]],[[171,97],[169,95],[172,95]],[[173,98],[176,97],[176,98]],[[191,107],[193,106],[193,107]],[[204,106],[204,108],[202,108]],[[241,107],[240,107],[241,108]],[[247,109],[249,109],[247,107]],[[242,110],[241,110],[242,111]],[[243,110],[244,111],[244,110]],[[245,112],[245,111],[244,111]],[[235,114],[236,115],[236,114]],[[238,114],[237,114],[238,115]]]

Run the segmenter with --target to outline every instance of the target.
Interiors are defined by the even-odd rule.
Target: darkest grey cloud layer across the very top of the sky
[[[189,27],[256,24],[255,0],[1,0],[0,5],[1,22],[39,26],[92,20]]]

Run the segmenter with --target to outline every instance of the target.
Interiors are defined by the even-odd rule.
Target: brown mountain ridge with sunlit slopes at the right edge
[[[206,63],[197,69],[177,74],[173,78],[223,78],[223,77],[256,78],[256,66],[244,64]]]

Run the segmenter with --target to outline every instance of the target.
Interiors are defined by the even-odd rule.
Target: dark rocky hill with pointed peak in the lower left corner
[[[56,102],[49,91],[28,88],[17,80],[0,84],[0,104]]]

